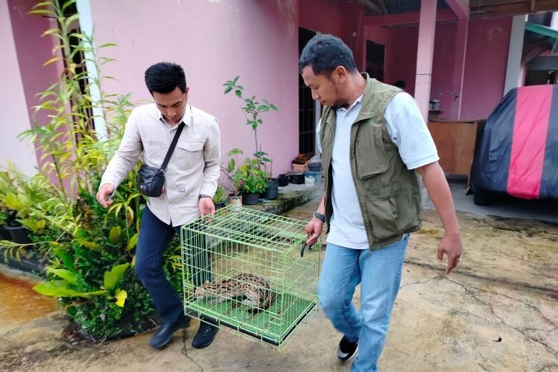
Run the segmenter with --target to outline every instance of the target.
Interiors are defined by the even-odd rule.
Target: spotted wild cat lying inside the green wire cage
[[[230,278],[225,278],[218,283],[204,284],[196,288],[194,296],[196,299],[203,297],[219,295],[214,300],[214,304],[228,299],[242,298],[243,304],[250,307],[247,309],[250,313],[257,313],[271,306],[273,302],[273,292],[269,280],[263,276],[256,274],[241,273],[235,274]]]

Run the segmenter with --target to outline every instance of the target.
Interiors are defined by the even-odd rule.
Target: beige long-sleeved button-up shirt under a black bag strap
[[[159,198],[149,198],[147,203],[155,216],[173,226],[199,216],[199,195],[213,197],[220,171],[217,119],[188,105],[182,121],[186,125],[167,166],[165,191]],[[146,165],[159,168],[177,128],[178,125],[167,124],[155,103],[136,107],[100,184],[118,187],[134,168],[140,154]]]

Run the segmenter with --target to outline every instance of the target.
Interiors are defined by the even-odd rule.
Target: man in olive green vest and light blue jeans
[[[401,280],[409,233],[421,228],[421,181],[444,224],[446,274],[461,256],[451,192],[428,128],[409,94],[361,75],[339,38],[318,35],[299,60],[304,84],[324,105],[317,128],[325,193],[306,227],[314,244],[328,223],[318,299],[342,332],[337,355],[352,371],[377,371]],[[361,311],[352,302],[361,284]]]

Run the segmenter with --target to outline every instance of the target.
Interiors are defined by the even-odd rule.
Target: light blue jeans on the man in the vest
[[[409,235],[375,251],[328,244],[318,281],[319,306],[349,341],[359,341],[351,371],[377,371]],[[361,283],[361,311],[352,302]]]

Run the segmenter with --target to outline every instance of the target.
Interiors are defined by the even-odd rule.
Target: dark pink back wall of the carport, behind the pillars
[[[414,94],[418,26],[383,28],[387,36],[367,29],[369,40],[386,43],[386,82],[405,80],[407,91]],[[455,22],[436,25],[432,65],[430,98],[440,100],[442,117],[449,118],[456,117],[451,116],[456,32]],[[511,17],[469,22],[461,119],[488,117],[502,100],[510,32]]]

